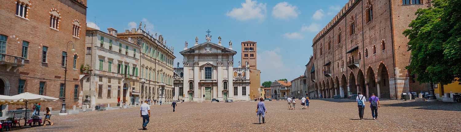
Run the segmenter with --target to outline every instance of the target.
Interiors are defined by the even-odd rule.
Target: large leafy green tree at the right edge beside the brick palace
[[[433,0],[418,9],[403,34],[410,39],[406,67],[423,83],[449,84],[461,79],[461,0]]]

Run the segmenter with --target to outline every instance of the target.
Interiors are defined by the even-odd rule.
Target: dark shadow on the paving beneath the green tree
[[[461,111],[461,103],[455,102],[403,102],[403,103],[391,103],[383,104],[381,107],[418,107],[414,109],[425,109],[425,110],[447,110],[447,111]]]

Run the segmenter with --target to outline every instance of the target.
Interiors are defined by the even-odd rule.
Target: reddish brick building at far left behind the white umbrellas
[[[65,97],[67,108],[81,104],[86,4],[86,0],[0,1],[0,94]],[[60,109],[61,101],[42,106]]]

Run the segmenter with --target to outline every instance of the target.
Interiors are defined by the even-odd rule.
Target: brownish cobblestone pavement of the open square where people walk
[[[301,102],[298,100],[298,102]],[[148,130],[142,126],[139,107],[92,111],[51,117],[53,126],[38,126],[27,132],[461,132],[461,103],[417,103],[381,101],[378,120],[367,106],[357,120],[357,103],[352,100],[312,99],[309,109],[289,110],[286,101],[265,101],[265,124],[258,122],[257,102],[178,103],[151,106]],[[366,103],[369,105],[369,103]]]

